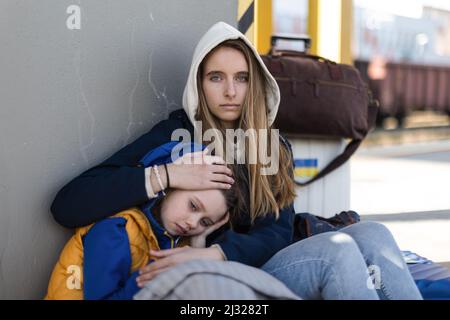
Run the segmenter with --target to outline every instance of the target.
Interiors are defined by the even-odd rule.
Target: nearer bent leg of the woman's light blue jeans
[[[377,298],[367,287],[367,266],[357,243],[342,232],[298,241],[261,268],[304,298]]]

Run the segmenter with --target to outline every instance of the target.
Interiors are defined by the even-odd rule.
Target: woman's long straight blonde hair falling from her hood
[[[248,129],[268,129],[267,137],[263,143],[262,148],[271,150],[270,148],[270,132],[273,126],[268,124],[268,108],[266,104],[266,77],[261,68],[261,65],[253,55],[253,51],[245,44],[244,41],[227,40],[219,44],[203,59],[199,71],[197,73],[197,90],[199,93],[199,106],[197,108],[196,120],[202,122],[202,131],[208,129],[217,129],[222,134],[221,136],[226,140],[225,128],[221,121],[213,115],[207,105],[205,93],[202,87],[204,64],[208,57],[220,47],[230,47],[242,52],[248,64],[249,80],[247,94],[242,106],[241,117],[238,120],[238,128],[244,131]],[[264,110],[265,112],[261,112]],[[240,179],[235,179],[241,185],[241,190],[246,192],[246,198],[249,202],[249,207],[242,208],[248,210],[251,221],[253,222],[258,217],[263,217],[268,213],[275,213],[275,217],[279,217],[280,209],[290,205],[296,196],[295,184],[293,180],[293,163],[289,150],[283,143],[279,144],[279,169],[277,174],[262,175],[262,165],[260,161],[255,164],[249,161],[249,155],[259,153],[259,136],[249,135],[246,139],[245,145],[245,160],[247,172],[243,166],[234,165],[234,173]],[[225,141],[226,143],[233,143],[234,141]],[[265,143],[267,142],[267,143]],[[238,181],[241,180],[241,181]],[[244,180],[244,181],[242,181]]]

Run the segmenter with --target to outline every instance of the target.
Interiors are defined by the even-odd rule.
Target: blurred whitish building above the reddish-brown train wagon
[[[369,61],[450,64],[450,11],[424,6],[407,17],[355,6],[354,57]]]

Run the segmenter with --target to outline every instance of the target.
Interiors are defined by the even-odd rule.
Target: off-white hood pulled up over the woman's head
[[[273,76],[270,74],[267,67],[264,65],[253,44],[238,30],[225,22],[218,22],[214,24],[200,39],[194,51],[192,58],[191,69],[187,79],[186,87],[183,93],[183,108],[186,111],[192,124],[195,123],[195,113],[198,107],[198,93],[197,93],[197,72],[200,63],[205,56],[214,49],[218,44],[229,39],[242,39],[253,50],[256,59],[260,63],[267,78],[266,85],[266,103],[269,108],[268,121],[269,126],[275,120],[277,115],[278,105],[280,104],[280,89]]]

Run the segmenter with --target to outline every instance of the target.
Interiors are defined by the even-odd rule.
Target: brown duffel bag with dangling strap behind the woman
[[[345,163],[358,149],[375,125],[378,101],[350,65],[291,50],[272,49],[262,59],[280,87],[276,128],[288,136],[351,139],[318,175],[296,182],[308,185]]]

